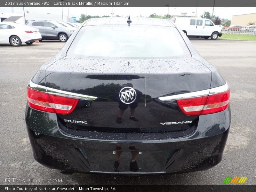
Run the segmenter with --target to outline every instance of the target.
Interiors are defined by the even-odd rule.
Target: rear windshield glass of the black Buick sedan
[[[178,30],[147,25],[82,27],[67,56],[183,58],[191,57]]]

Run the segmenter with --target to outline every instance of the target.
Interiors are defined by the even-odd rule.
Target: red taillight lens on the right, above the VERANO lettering
[[[204,97],[177,100],[180,110],[186,115],[206,115],[228,108],[230,90]]]

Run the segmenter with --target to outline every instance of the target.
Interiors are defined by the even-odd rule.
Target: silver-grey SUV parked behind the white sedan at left
[[[42,35],[42,40],[59,39],[60,42],[66,42],[74,30],[61,25],[56,21],[48,20],[31,20],[27,23],[28,26],[38,28]]]

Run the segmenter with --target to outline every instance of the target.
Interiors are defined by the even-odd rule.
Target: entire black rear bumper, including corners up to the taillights
[[[49,168],[80,173],[184,173],[206,170],[220,163],[229,132],[230,109],[201,116],[192,135],[164,140],[156,137],[143,140],[148,133],[137,133],[141,137],[134,141],[116,140],[108,138],[106,132],[95,132],[102,140],[90,136],[75,138],[60,132],[56,122],[55,114],[27,107],[26,123],[34,158]],[[128,133],[124,134],[128,138]],[[138,150],[129,149],[131,143]],[[130,165],[132,158],[140,170]],[[120,165],[114,170],[117,159]]]

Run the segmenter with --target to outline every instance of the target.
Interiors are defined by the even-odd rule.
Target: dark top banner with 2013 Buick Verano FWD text
[[[255,0],[1,0],[0,7],[256,7]]]

